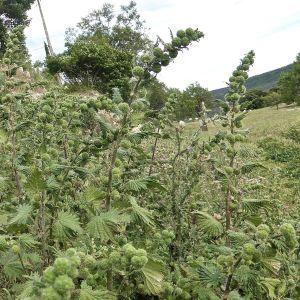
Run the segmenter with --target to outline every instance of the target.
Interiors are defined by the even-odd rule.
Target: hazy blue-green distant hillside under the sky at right
[[[247,89],[268,91],[269,89],[277,85],[280,75],[283,72],[289,71],[291,68],[292,64],[273,71],[250,77],[246,82],[246,87]],[[211,93],[215,96],[215,98],[222,99],[227,93],[227,87],[213,90],[211,91]]]

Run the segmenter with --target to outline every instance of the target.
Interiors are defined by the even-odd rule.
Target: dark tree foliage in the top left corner
[[[0,54],[6,48],[7,31],[19,25],[28,25],[27,11],[35,0],[0,1]]]

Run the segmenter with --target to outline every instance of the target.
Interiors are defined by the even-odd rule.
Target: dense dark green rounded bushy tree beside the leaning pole
[[[132,55],[113,48],[103,37],[78,39],[67,50],[50,56],[47,66],[52,74],[62,73],[70,83],[84,84],[103,93],[119,87],[129,95]]]

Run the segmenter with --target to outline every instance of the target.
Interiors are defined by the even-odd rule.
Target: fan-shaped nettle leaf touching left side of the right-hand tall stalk
[[[196,212],[196,217],[197,223],[203,234],[209,237],[217,237],[223,233],[224,228],[222,223],[206,212],[198,211]]]

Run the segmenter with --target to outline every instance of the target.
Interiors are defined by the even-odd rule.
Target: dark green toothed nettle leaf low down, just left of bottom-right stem
[[[209,287],[219,287],[223,284],[225,276],[216,265],[203,265],[198,270],[200,282]]]

